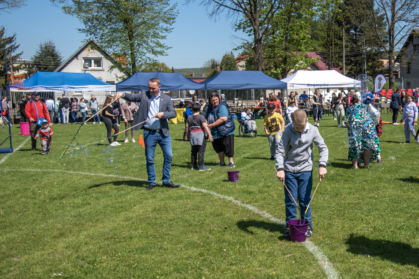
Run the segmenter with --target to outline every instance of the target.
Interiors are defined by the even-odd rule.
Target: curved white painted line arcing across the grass
[[[147,179],[141,179],[141,178],[136,178],[136,177],[125,177],[125,176],[119,176],[119,175],[113,175],[113,174],[91,174],[91,173],[86,173],[86,172],[81,172],[81,171],[65,171],[65,170],[57,170],[57,169],[5,169],[5,171],[64,172],[64,173],[68,173],[68,174],[83,174],[83,175],[94,175],[94,176],[101,176],[101,177],[115,177],[115,178],[123,178],[123,179],[132,179],[132,180],[137,180],[137,181],[147,181]],[[252,212],[257,213],[257,214],[261,215],[262,217],[268,218],[272,222],[275,222],[278,225],[282,225],[283,228],[285,228],[284,220],[275,218],[274,216],[270,215],[268,212],[259,210],[256,207],[254,207],[253,205],[248,205],[244,202],[233,199],[233,197],[221,195],[221,194],[218,194],[216,192],[209,191],[209,190],[206,190],[206,189],[189,187],[189,186],[185,186],[185,185],[181,185],[181,186],[186,188],[186,189],[189,189],[189,190],[198,191],[198,192],[214,195],[214,196],[219,197],[221,199],[229,200],[230,202],[233,202],[236,205],[246,207],[248,210],[251,210]],[[320,264],[320,266],[324,269],[328,279],[340,279],[341,278],[339,276],[339,274],[337,273],[337,271],[334,269],[332,263],[323,254],[323,252],[321,251],[320,248],[318,248],[316,245],[313,244],[313,242],[311,242],[309,240],[305,241],[303,244],[304,244],[305,248],[307,248],[308,251],[310,251],[310,253],[312,253],[313,256],[316,257],[316,259],[318,261],[318,264]]]

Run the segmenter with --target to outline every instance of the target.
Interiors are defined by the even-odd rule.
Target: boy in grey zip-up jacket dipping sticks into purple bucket
[[[291,192],[292,197],[298,200],[301,212],[305,212],[311,199],[313,187],[313,143],[316,144],[319,154],[318,174],[321,179],[327,173],[328,149],[316,126],[307,122],[307,114],[304,110],[296,110],[292,115],[292,123],[285,127],[275,153],[277,165],[277,177]],[[297,219],[297,206],[292,197],[285,192],[285,215],[286,221]],[[311,206],[305,214],[305,219],[310,225],[306,235],[313,234],[311,221]],[[290,231],[285,230],[285,237],[290,237]]]

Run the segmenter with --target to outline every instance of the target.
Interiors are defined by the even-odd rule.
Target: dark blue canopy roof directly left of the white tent
[[[285,89],[287,84],[260,71],[222,71],[204,80],[207,90]]]

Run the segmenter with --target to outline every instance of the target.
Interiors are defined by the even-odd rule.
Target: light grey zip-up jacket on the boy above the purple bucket
[[[320,166],[326,168],[329,151],[317,127],[307,123],[301,133],[295,131],[292,123],[285,126],[275,152],[275,164],[278,171],[292,173],[313,171],[313,142],[320,154]]]

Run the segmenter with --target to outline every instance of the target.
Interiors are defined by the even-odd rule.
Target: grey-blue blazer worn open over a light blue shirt
[[[140,106],[135,113],[134,121],[132,122],[132,126],[143,122],[147,119],[148,111],[150,110],[150,103],[151,103],[151,94],[150,91],[140,92],[136,94],[129,94],[125,93],[124,100],[128,100],[130,102],[138,102]],[[160,106],[159,106],[159,113],[163,113],[163,118],[160,119],[161,131],[163,135],[166,137],[169,136],[169,125],[168,125],[168,118],[176,118],[176,110],[173,108],[172,99],[170,96],[160,92]],[[140,124],[133,128],[134,131],[140,130],[144,124]]]

